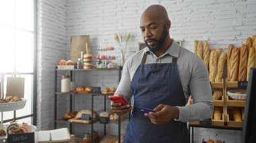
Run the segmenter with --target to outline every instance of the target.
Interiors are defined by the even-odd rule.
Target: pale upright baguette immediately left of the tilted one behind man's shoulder
[[[215,50],[210,53],[209,73],[210,81],[214,82],[217,73],[217,52]]]

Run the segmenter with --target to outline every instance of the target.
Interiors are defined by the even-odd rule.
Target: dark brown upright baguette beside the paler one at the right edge
[[[242,44],[240,47],[240,61],[239,61],[239,73],[238,73],[238,81],[246,81],[247,80],[247,46]]]

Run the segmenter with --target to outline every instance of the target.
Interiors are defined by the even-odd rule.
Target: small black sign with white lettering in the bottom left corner
[[[8,134],[8,143],[27,143],[34,142],[34,132],[24,134]]]

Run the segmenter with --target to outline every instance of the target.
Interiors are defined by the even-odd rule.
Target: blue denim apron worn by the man
[[[146,57],[144,54],[131,81],[134,106],[125,143],[189,143],[187,123],[170,120],[155,125],[139,110],[139,107],[154,109],[159,104],[186,105],[177,58],[172,58],[172,63],[144,64]]]

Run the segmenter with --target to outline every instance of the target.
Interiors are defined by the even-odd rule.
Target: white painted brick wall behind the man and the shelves
[[[137,42],[142,41],[139,31],[140,15],[143,9],[152,4],[166,7],[172,21],[170,36],[176,40],[183,40],[183,46],[192,51],[195,39],[208,40],[211,48],[227,48],[230,43],[240,46],[247,37],[256,34],[255,0],[40,0],[38,1],[38,124],[41,129],[53,128],[53,69],[59,59],[69,58],[70,37],[90,35],[92,54],[96,55],[105,54],[96,50],[98,46],[118,47],[113,38],[115,32],[131,32],[133,36],[128,44],[126,54],[128,57],[137,50]],[[107,54],[119,56],[117,50]],[[119,64],[119,58],[113,62]],[[90,78],[86,82],[102,87],[112,83],[105,78],[107,73],[94,74],[96,73],[92,76],[95,78]],[[113,86],[117,84],[115,74],[110,74],[109,79],[115,79]],[[84,84],[89,85],[89,83]],[[82,99],[79,101],[84,102]],[[46,118],[49,120],[44,120]],[[202,138],[220,138],[227,143],[241,142],[241,132],[195,129],[195,142],[201,142]]]

